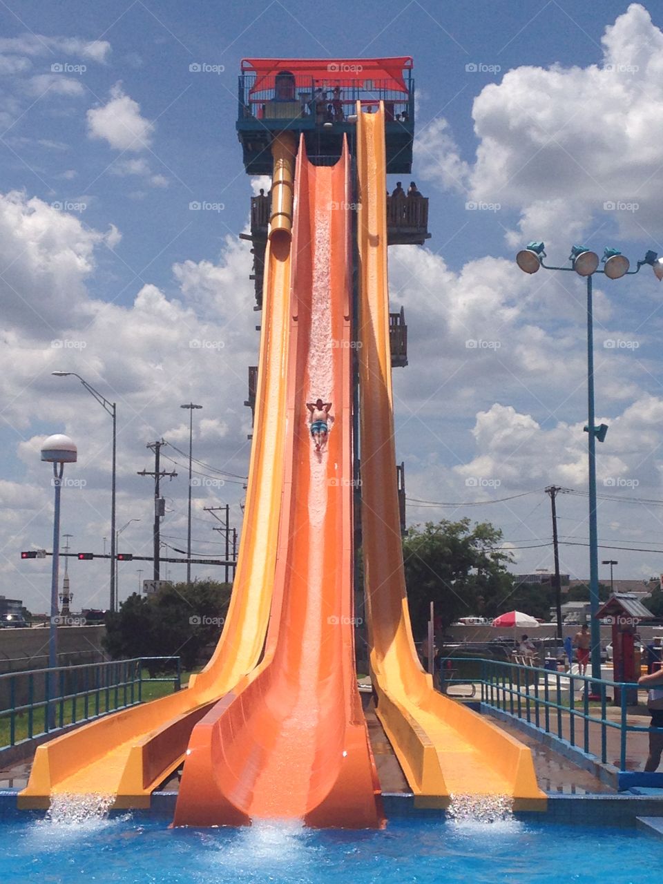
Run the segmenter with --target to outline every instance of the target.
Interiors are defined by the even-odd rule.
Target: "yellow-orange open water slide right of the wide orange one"
[[[419,806],[451,795],[504,795],[545,809],[530,750],[433,690],[415,652],[400,545],[389,350],[385,115],[357,107],[362,536],[377,716]]]

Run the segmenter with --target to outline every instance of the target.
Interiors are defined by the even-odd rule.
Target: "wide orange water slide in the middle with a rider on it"
[[[379,786],[354,669],[350,174],[347,144],[313,166],[293,210],[286,477],[263,660],[195,726],[176,826],[303,819],[379,827]],[[306,403],[332,403],[318,453]]]

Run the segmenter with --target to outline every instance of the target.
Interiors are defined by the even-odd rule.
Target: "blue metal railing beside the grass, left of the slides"
[[[171,663],[172,675],[156,678],[143,673],[166,663]],[[171,682],[173,690],[179,690],[179,657],[137,657],[0,674],[0,750],[138,705],[145,682]],[[53,684],[55,696],[51,696]],[[55,728],[50,726],[49,709],[55,713]]]

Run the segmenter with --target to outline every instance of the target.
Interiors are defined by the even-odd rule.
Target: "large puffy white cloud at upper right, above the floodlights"
[[[601,43],[598,64],[524,65],[485,86],[472,108],[473,164],[445,120],[417,139],[424,174],[439,186],[520,212],[511,247],[598,226],[602,235],[658,239],[663,33],[643,5],[630,4]]]

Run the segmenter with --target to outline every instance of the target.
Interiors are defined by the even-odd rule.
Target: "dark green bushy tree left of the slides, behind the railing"
[[[172,655],[192,669],[221,633],[231,589],[229,583],[196,581],[147,597],[133,593],[118,613],[106,615],[103,645],[113,659]]]

